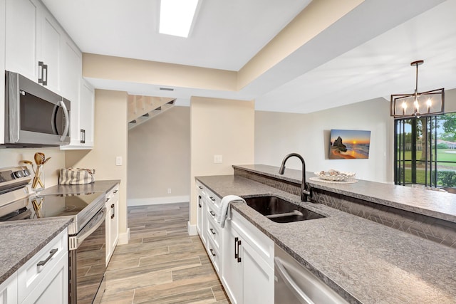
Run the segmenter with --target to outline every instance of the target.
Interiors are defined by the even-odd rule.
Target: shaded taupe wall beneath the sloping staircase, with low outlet
[[[190,108],[173,107],[128,131],[128,205],[189,196]]]

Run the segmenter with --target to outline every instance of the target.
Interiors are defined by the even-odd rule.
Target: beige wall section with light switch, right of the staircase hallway
[[[254,163],[254,101],[192,97],[190,105],[190,224],[196,224],[195,176],[232,174]],[[222,155],[222,164],[214,164]]]

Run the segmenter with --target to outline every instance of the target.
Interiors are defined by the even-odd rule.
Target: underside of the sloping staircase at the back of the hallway
[[[172,108],[175,98],[128,95],[128,130]]]

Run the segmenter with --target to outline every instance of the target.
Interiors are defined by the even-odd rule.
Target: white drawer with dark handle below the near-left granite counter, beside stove
[[[41,248],[35,256],[28,260],[18,271],[18,299],[22,303],[56,266],[61,257],[68,254],[68,230]]]

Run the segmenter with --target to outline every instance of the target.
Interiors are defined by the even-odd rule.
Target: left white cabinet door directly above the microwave
[[[41,4],[36,0],[6,0],[5,68],[38,82],[38,41]]]

